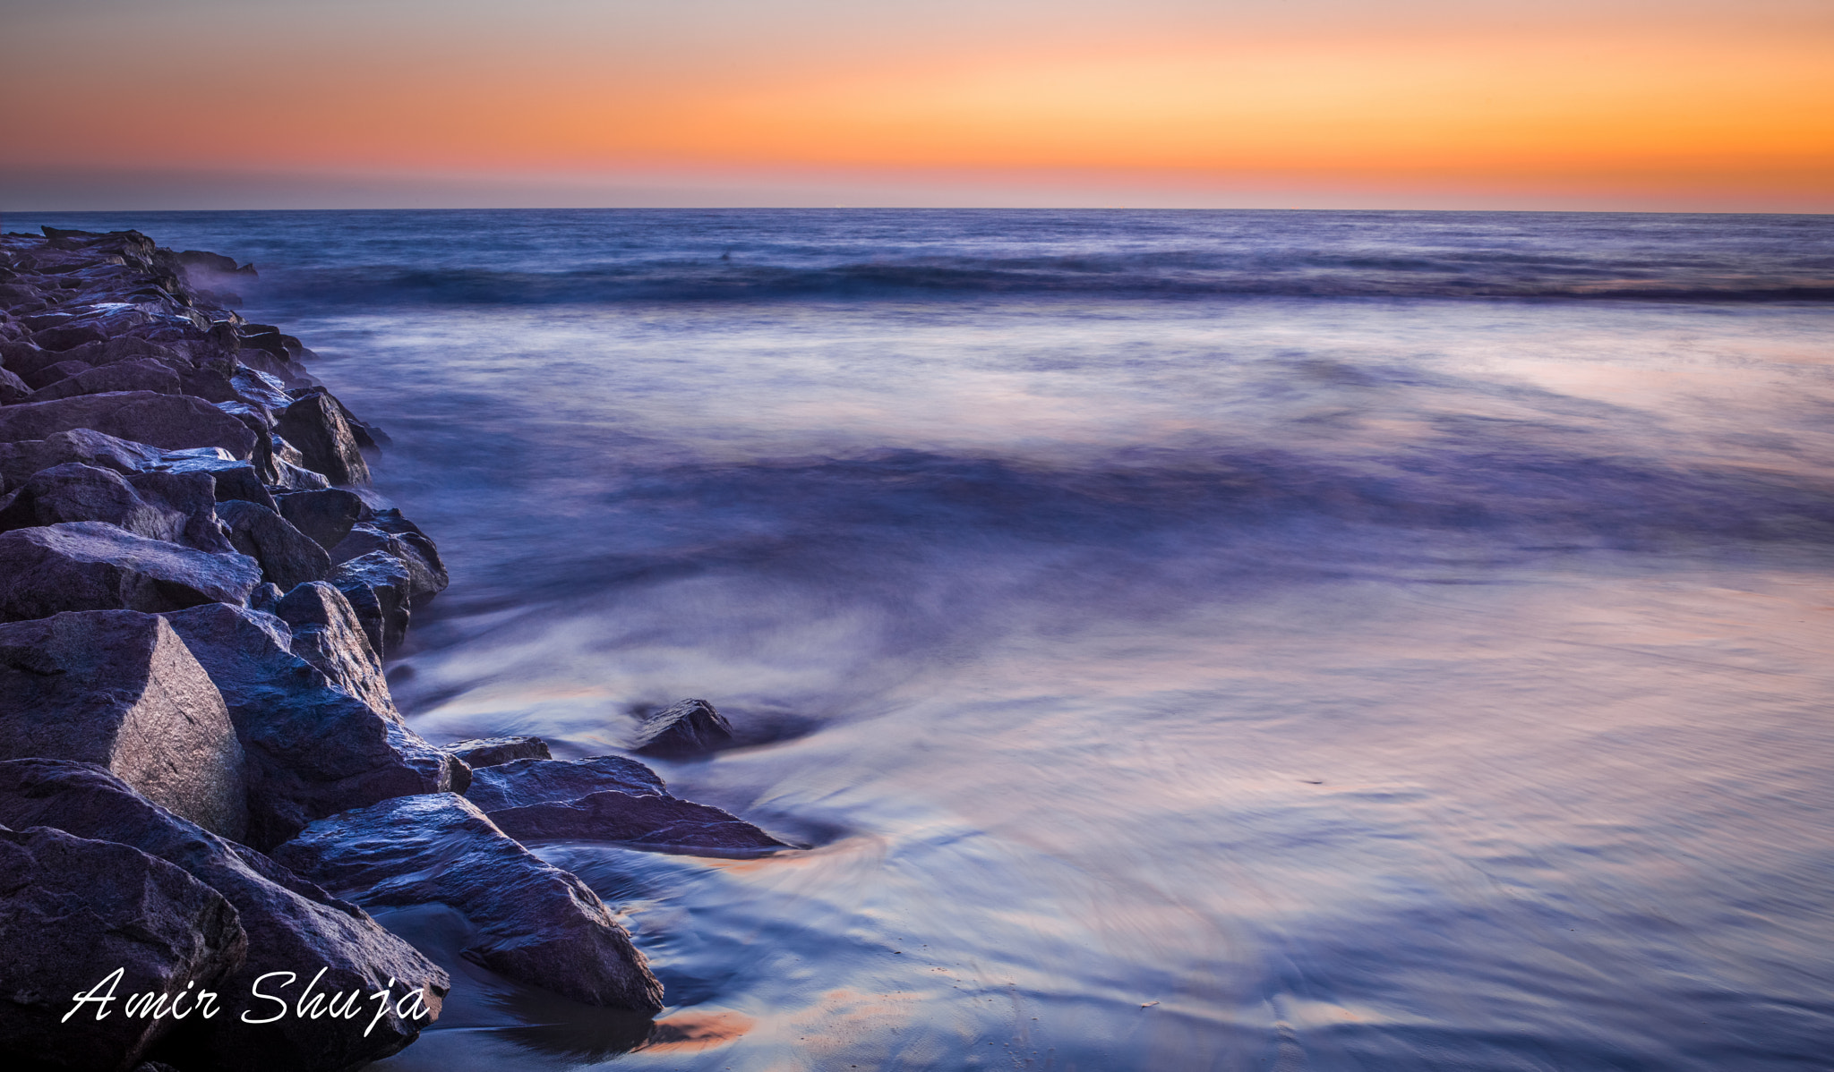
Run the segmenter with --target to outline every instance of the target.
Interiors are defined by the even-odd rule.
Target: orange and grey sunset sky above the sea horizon
[[[0,211],[1834,211],[1828,0],[0,0]]]

